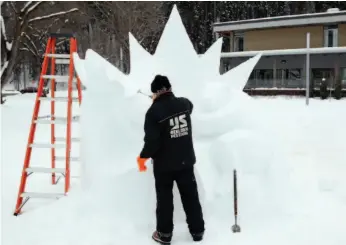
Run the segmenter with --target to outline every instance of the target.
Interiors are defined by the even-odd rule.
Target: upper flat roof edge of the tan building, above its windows
[[[266,29],[275,27],[290,27],[301,25],[346,23],[346,11],[330,11],[314,14],[285,15],[251,20],[216,22],[214,32],[242,31]]]

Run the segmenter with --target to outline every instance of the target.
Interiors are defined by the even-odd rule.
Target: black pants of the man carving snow
[[[157,198],[156,230],[162,233],[173,232],[173,183],[176,181],[190,233],[203,232],[203,213],[193,167],[174,172],[158,172],[154,167],[154,176]]]

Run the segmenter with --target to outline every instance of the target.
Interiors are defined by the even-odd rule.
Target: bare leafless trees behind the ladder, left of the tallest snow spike
[[[1,88],[19,77],[20,67],[30,66],[30,76],[39,75],[50,32],[73,32],[80,55],[92,48],[128,71],[128,33],[152,52],[166,20],[162,2],[8,1],[3,5],[1,21],[6,30],[2,28],[1,42],[7,45],[1,49]]]

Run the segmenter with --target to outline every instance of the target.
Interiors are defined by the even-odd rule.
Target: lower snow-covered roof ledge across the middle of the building
[[[221,58],[236,58],[236,57],[252,57],[259,53],[262,56],[273,55],[304,55],[310,54],[346,54],[346,47],[335,48],[298,48],[298,49],[278,49],[278,50],[260,50],[260,51],[243,51],[243,52],[228,52],[221,53]]]

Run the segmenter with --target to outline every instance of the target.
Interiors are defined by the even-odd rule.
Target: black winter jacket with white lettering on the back
[[[154,100],[145,115],[141,158],[152,158],[155,171],[176,171],[196,162],[192,142],[193,104],[172,92]]]

